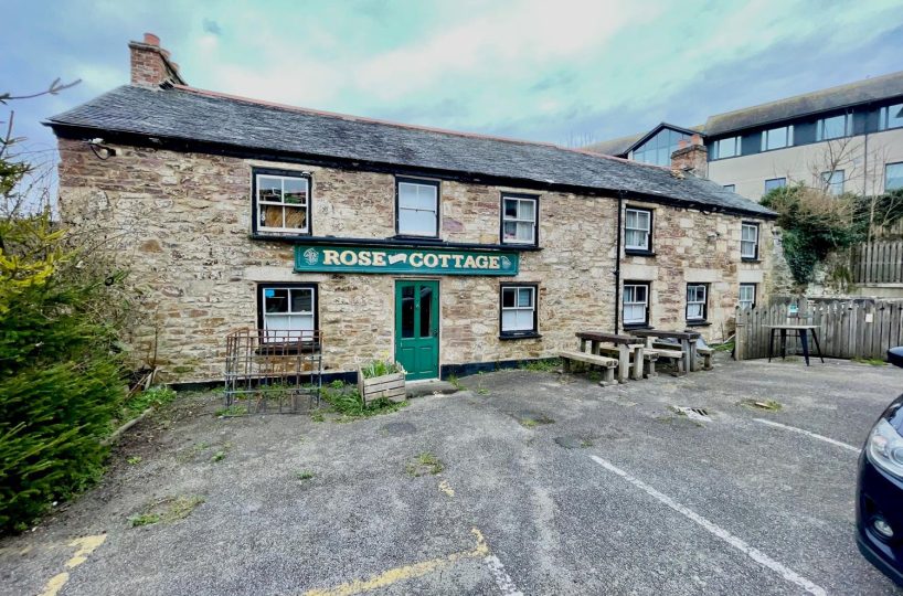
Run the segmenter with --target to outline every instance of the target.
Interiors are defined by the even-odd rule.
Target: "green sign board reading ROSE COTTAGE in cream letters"
[[[518,253],[446,248],[295,245],[295,270],[370,274],[518,275]]]

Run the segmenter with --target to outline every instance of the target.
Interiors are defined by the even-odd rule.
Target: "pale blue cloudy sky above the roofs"
[[[903,0],[4,0],[0,93],[40,121],[129,76],[160,36],[192,86],[455,130],[586,145],[903,70]]]

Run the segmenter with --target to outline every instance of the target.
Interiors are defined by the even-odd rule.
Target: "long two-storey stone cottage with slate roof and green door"
[[[573,349],[578,330],[721,337],[769,292],[774,214],[672,168],[190,87],[153,35],[131,82],[52,117],[64,222],[118,243],[138,359],[222,379],[236,328],[319,329],[327,373],[411,379]]]

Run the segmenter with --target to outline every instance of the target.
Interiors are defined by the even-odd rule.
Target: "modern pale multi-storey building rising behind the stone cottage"
[[[587,149],[669,167],[680,141],[704,142],[708,178],[758,199],[793,182],[833,193],[903,188],[903,72],[710,116],[661,123]]]

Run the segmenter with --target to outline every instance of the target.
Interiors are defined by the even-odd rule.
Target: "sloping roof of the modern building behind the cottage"
[[[705,121],[705,135],[723,135],[896,96],[903,96],[903,71],[710,116]]]

